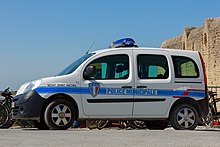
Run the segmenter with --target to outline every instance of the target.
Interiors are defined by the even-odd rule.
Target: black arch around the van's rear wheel
[[[171,115],[171,112],[173,111],[173,109],[179,105],[179,104],[190,104],[192,106],[195,107],[195,109],[197,110],[198,114],[199,114],[199,117],[201,117],[201,114],[200,114],[200,111],[199,111],[199,106],[198,106],[198,103],[195,99],[191,98],[191,97],[182,97],[182,98],[179,98],[178,100],[176,100],[171,109],[170,109],[170,112],[169,112],[169,118],[170,118],[170,115]]]

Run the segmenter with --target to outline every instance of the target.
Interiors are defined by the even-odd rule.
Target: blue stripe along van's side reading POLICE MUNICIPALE
[[[70,94],[90,94],[88,87],[38,87],[38,93],[70,93]],[[187,93],[187,94],[186,94]],[[174,98],[205,97],[205,91],[185,91],[185,90],[164,90],[164,89],[124,89],[124,88],[100,88],[100,95],[136,95],[136,96],[172,96]]]

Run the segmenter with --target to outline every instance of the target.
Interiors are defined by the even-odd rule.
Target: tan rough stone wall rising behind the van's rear
[[[198,28],[185,28],[180,36],[166,40],[161,47],[200,51],[206,64],[208,85],[220,86],[220,17],[207,18]]]

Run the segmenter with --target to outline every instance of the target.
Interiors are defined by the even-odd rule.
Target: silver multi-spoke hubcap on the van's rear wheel
[[[177,114],[177,122],[183,128],[189,128],[195,123],[195,114],[189,108],[181,109]]]

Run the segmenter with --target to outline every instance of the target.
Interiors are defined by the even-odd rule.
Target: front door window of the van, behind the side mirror
[[[129,76],[129,57],[124,54],[101,57],[88,66],[96,67],[96,80],[127,79]]]

